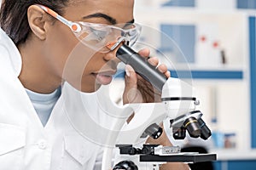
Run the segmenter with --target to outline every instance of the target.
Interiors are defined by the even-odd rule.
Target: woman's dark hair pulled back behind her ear
[[[27,8],[37,3],[62,14],[68,0],[3,0],[0,11],[0,26],[16,45],[26,42],[26,38],[31,32],[27,20]]]

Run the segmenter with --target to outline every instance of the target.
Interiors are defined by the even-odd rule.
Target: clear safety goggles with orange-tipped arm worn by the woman
[[[142,28],[138,24],[130,23],[110,26],[83,21],[73,22],[66,20],[60,14],[44,5],[38,4],[38,7],[67,25],[84,45],[102,53],[108,53],[119,46],[121,42],[132,46],[137,41]]]

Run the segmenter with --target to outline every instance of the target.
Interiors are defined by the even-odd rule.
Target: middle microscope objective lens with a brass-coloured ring
[[[189,135],[192,138],[198,138],[201,136],[201,127],[195,117],[189,117],[185,122],[183,122],[183,125],[188,130]]]

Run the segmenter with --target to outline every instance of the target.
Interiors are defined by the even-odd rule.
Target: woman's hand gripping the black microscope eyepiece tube
[[[143,57],[148,58],[150,52],[148,49],[143,49],[138,52]],[[166,65],[159,65],[159,59],[156,57],[148,59],[148,63],[157,66],[157,69],[170,77],[170,72]],[[160,92],[153,88],[153,86],[143,77],[137,75],[131,65],[125,65],[125,91],[123,94],[123,103],[153,103],[160,102]]]

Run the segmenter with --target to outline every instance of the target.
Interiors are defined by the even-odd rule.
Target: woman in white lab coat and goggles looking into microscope
[[[90,93],[112,81],[119,60],[115,57],[117,48],[109,48],[127,40],[116,43],[119,34],[111,34],[113,38],[107,38],[108,44],[101,42],[109,33],[108,26],[117,32],[137,29],[133,25],[133,3],[126,0],[3,1],[0,22],[9,37],[1,31],[0,169],[96,168],[101,147],[90,145],[74,130],[63,113],[62,96],[67,88],[60,87],[68,83],[69,91],[75,94],[79,90],[90,99]],[[71,21],[84,23],[79,27]],[[96,29],[102,28],[100,24],[108,25],[106,32]],[[121,26],[111,27],[117,24]],[[144,49],[140,54],[148,56],[149,52]],[[156,58],[148,61],[158,65]],[[166,77],[170,76],[166,65],[159,65],[158,69]],[[152,102],[154,93],[148,93],[144,84],[127,65],[124,103]],[[79,110],[79,105],[72,105]],[[170,145],[165,135],[151,142]],[[168,163],[161,169],[188,167],[183,163]]]

